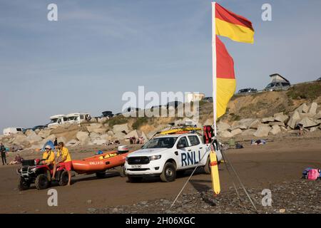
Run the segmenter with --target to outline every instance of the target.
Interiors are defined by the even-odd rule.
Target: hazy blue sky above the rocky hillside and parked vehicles
[[[321,76],[321,1],[218,1],[253,22],[255,43],[222,38],[238,88],[262,89],[271,73],[292,83]],[[48,21],[48,4],[58,21]],[[272,5],[272,21],[261,6]],[[49,122],[58,113],[119,112],[126,91],[210,95],[207,0],[1,1],[0,129]]]

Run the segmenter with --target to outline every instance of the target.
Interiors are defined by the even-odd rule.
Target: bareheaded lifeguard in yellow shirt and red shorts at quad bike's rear
[[[66,147],[64,147],[63,142],[58,143],[57,159],[54,164],[54,172],[52,174],[51,180],[55,180],[57,167],[61,165],[64,165],[65,169],[68,171],[68,185],[70,185],[72,166],[71,155],[69,153],[69,150]]]

